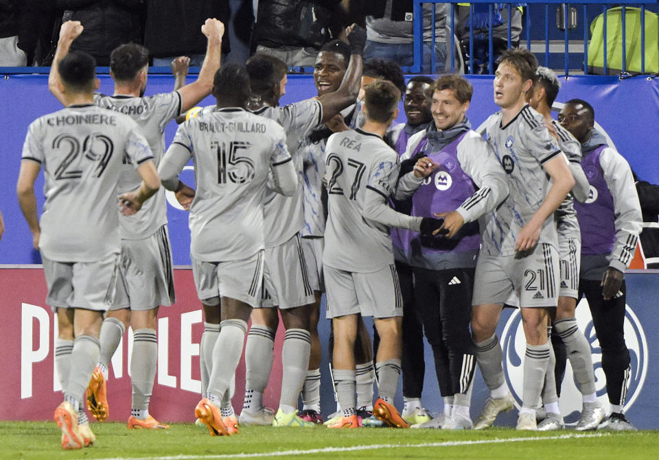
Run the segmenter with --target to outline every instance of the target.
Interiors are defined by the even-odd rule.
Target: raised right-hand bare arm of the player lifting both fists
[[[197,80],[178,90],[178,93],[181,93],[181,112],[186,112],[190,108],[193,108],[201,99],[211,93],[213,89],[213,77],[215,77],[215,73],[220,68],[224,24],[218,19],[209,18],[201,26],[201,32],[208,39],[206,56],[203,64],[201,64]]]

